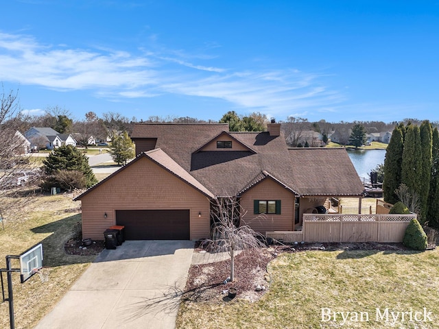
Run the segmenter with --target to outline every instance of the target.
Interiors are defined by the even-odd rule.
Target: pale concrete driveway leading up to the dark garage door
[[[35,328],[175,328],[192,253],[192,241],[106,249]]]

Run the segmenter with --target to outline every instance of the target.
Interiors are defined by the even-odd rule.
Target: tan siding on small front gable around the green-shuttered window
[[[255,219],[254,200],[281,200],[281,215],[266,215]],[[266,179],[250,188],[241,197],[241,206],[247,211],[243,218],[253,230],[261,234],[267,231],[294,230],[294,195],[273,180]]]

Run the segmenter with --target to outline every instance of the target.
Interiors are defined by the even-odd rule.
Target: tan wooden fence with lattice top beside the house
[[[304,214],[300,232],[266,232],[284,242],[402,242],[410,215]],[[300,239],[301,238],[301,239]]]

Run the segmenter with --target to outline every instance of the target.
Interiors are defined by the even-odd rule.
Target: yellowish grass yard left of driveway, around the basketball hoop
[[[64,252],[64,243],[74,234],[81,220],[79,202],[73,195],[37,195],[29,197],[20,215],[13,218],[3,212],[4,230],[0,226],[0,267],[5,268],[6,255],[18,255],[36,243],[43,243],[43,273],[47,282],[38,275],[20,283],[19,273],[12,273],[14,292],[15,328],[34,328],[46,313],[67,293],[95,256],[75,256]],[[2,202],[16,201],[2,198]],[[21,204],[17,202],[17,204]],[[13,263],[15,268],[18,262]],[[3,273],[5,297],[7,282]],[[9,328],[8,302],[0,304],[0,328]]]

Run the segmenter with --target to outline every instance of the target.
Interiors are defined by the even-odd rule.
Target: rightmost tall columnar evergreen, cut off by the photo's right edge
[[[439,131],[434,128],[431,138],[431,177],[427,202],[427,221],[429,226],[439,229]]]

